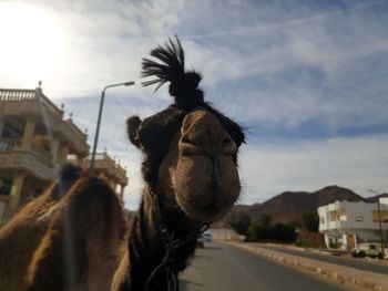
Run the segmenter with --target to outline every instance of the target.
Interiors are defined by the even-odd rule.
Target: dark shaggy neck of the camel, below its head
[[[130,280],[127,290],[144,290],[144,283],[153,270],[162,262],[165,247],[162,241],[161,228],[155,212],[154,199],[145,193],[130,231]],[[197,222],[187,218],[181,210],[163,210],[163,224],[173,239],[187,237],[197,228]],[[174,268],[181,271],[186,268],[187,259],[194,254],[196,240],[193,238],[185,245],[174,249]],[[161,269],[151,281],[150,290],[167,290],[165,270]]]

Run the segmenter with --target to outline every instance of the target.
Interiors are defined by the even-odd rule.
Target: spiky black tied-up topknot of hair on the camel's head
[[[156,77],[142,82],[143,86],[156,84],[156,91],[170,82],[169,93],[183,112],[188,112],[203,104],[204,94],[198,87],[202,75],[195,71],[185,71],[184,51],[177,37],[174,40],[169,39],[164,46],[156,46],[150,54],[155,60],[143,58],[141,76]]]

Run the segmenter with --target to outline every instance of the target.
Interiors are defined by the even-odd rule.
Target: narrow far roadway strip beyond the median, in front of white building
[[[363,270],[363,271],[369,271],[374,273],[381,273],[381,274],[388,274],[388,268],[387,264],[377,264],[368,262],[366,259],[356,259],[356,258],[349,258],[349,257],[336,257],[336,256],[327,256],[327,254],[320,254],[320,253],[314,253],[308,251],[298,251],[293,249],[287,249],[284,247],[272,247],[266,246],[263,243],[258,245],[261,248],[269,249],[269,250],[276,250],[284,253],[295,254],[313,260],[319,260],[325,262],[330,262],[339,266],[346,266],[354,269]],[[378,259],[376,259],[378,260]]]

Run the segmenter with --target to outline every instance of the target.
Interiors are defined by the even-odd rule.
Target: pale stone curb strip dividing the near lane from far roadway
[[[326,279],[335,280],[340,284],[347,284],[347,285],[353,284],[368,291],[370,290],[388,291],[388,280],[387,280],[387,283],[379,282],[382,279],[385,279],[385,276],[374,274],[370,272],[359,271],[359,270],[356,270],[355,274],[351,274],[351,273],[349,274],[349,272],[347,271],[350,270],[351,268],[348,268],[348,267],[338,268],[338,266],[335,266],[331,263],[326,263],[326,262],[323,263],[317,260],[300,258],[293,254],[285,254],[277,251],[263,249],[257,246],[249,246],[246,243],[238,243],[238,242],[227,242],[227,243],[241,249],[248,250],[255,254],[265,257],[273,261],[277,261],[283,264],[287,264],[287,266],[296,267],[309,272],[314,272]],[[364,274],[364,276],[360,276],[360,274]]]

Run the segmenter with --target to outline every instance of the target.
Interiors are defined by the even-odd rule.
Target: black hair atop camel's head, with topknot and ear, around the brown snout
[[[184,116],[197,107],[215,114],[228,128],[237,146],[244,142],[241,126],[204,101],[204,93],[200,89],[202,75],[194,70],[185,70],[185,54],[177,37],[151,50],[150,55],[150,59],[142,59],[141,76],[146,79],[142,85],[156,85],[156,91],[165,83],[170,83],[169,93],[174,98],[174,103],[144,119],[132,116],[126,121],[127,136],[133,145],[146,153],[157,152],[159,156],[162,156],[169,145],[167,142],[182,125]],[[155,141],[159,142],[155,143]]]

